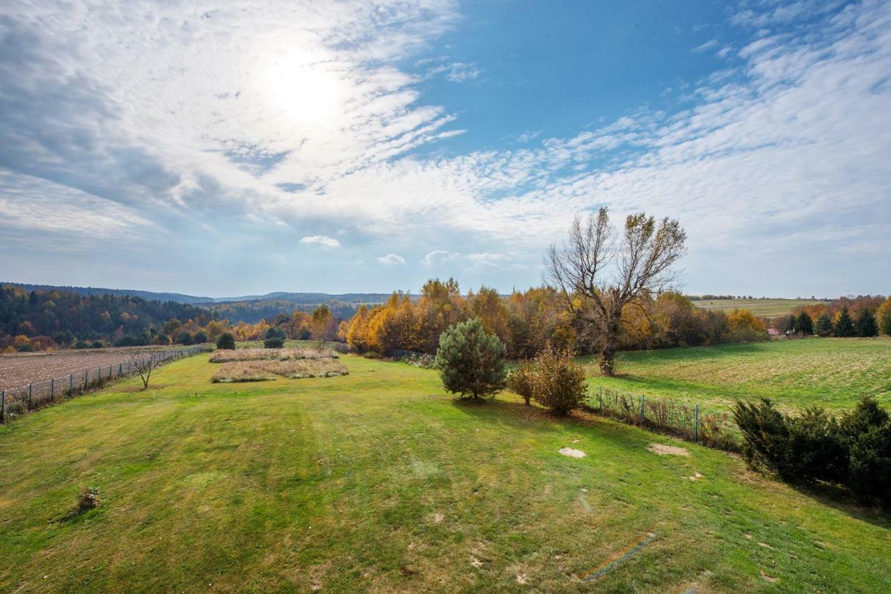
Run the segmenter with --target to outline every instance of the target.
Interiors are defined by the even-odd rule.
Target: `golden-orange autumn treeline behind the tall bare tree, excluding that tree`
[[[360,353],[434,354],[443,331],[478,318],[486,332],[502,340],[512,359],[532,358],[549,342],[576,353],[594,352],[599,337],[586,323],[584,308],[570,310],[564,301],[550,287],[514,290],[507,297],[486,287],[462,295],[454,279],[433,279],[421,289],[420,299],[393,293],[385,304],[360,307],[340,325],[339,338]],[[767,338],[766,323],[748,310],[702,310],[674,292],[635,299],[625,305],[621,322],[620,346],[625,350]]]

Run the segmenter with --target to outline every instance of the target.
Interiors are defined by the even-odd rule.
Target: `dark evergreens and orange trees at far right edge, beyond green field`
[[[840,297],[828,304],[802,305],[775,318],[772,327],[799,336],[870,338],[891,334],[891,297]]]

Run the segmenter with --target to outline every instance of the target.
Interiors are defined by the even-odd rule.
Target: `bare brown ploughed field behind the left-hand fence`
[[[61,378],[83,370],[107,368],[109,365],[117,366],[119,363],[126,364],[131,354],[146,353],[151,350],[158,349],[136,346],[53,353],[0,354],[0,390]]]

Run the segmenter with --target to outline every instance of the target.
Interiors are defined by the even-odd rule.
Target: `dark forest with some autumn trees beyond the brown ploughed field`
[[[78,342],[93,346],[95,341],[157,334],[171,319],[205,325],[210,317],[204,308],[173,301],[4,286],[0,287],[0,349],[46,350]]]

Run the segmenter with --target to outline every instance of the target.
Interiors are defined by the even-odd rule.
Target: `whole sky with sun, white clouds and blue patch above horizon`
[[[690,294],[891,293],[891,2],[0,5],[0,281],[507,292],[603,206]]]

